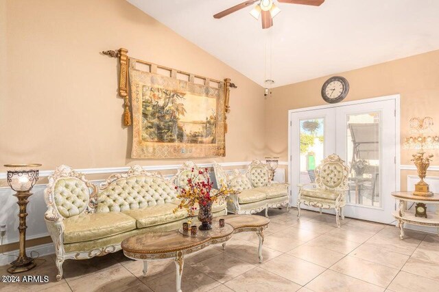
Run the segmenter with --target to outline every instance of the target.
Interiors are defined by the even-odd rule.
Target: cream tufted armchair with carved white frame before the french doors
[[[316,182],[299,184],[297,198],[298,217],[300,204],[322,209],[335,209],[335,220],[340,227],[340,215],[344,220],[349,169],[338,155],[329,155],[315,170]]]

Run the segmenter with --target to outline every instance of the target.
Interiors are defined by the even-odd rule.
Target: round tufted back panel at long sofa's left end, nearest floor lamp
[[[64,218],[79,215],[87,208],[89,190],[79,178],[59,178],[54,186],[56,209]]]

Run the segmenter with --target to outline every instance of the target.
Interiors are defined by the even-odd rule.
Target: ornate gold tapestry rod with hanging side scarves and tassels
[[[121,97],[124,98],[125,100],[125,111],[123,112],[124,114],[124,122],[126,126],[130,126],[131,125],[131,114],[130,114],[130,101],[129,101],[129,96],[128,96],[128,64],[129,64],[129,57],[127,55],[128,50],[127,49],[119,49],[117,51],[102,51],[102,53],[104,55],[108,55],[110,57],[117,57],[119,58],[119,64],[121,66],[121,75],[119,78],[119,95]],[[188,76],[193,76],[196,78],[200,78],[200,79],[204,79],[204,80],[209,80],[209,81],[213,81],[216,83],[222,83],[222,81],[219,80],[215,80],[215,79],[210,79],[207,77],[202,77],[199,75],[192,75],[189,72],[185,72],[185,71],[180,71],[180,70],[174,70],[173,68],[169,68],[166,66],[160,66],[160,65],[156,65],[154,63],[151,62],[146,62],[146,61],[142,61],[139,59],[135,59],[136,62],[140,62],[143,64],[147,64],[150,66],[156,66],[157,68],[163,68],[165,70],[169,70],[171,72],[178,72],[181,73],[183,75],[188,75]],[[226,114],[230,113],[230,106],[229,106],[229,98],[230,98],[230,88],[237,88],[237,85],[235,85],[235,83],[231,83],[230,82],[230,78],[226,78],[224,79],[224,98],[225,98],[225,103],[224,103],[224,110],[226,111]],[[227,116],[225,116],[225,119],[227,120]],[[224,130],[225,133],[227,133],[227,121],[224,121]]]

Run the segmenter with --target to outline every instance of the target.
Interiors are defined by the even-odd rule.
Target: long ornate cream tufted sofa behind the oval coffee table
[[[45,201],[45,221],[55,245],[57,280],[62,278],[66,259],[116,252],[127,237],[174,230],[187,220],[185,210],[173,212],[178,205],[176,186],[140,165],[126,173],[112,174],[99,189],[84,174],[61,165],[49,176]],[[213,215],[226,213],[226,204],[222,204]]]

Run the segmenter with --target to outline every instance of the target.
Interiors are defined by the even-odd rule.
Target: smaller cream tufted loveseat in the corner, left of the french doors
[[[213,162],[217,185],[227,185],[238,191],[231,195],[227,202],[227,210],[235,214],[253,214],[268,208],[287,207],[289,210],[289,185],[270,181],[271,172],[265,163],[255,159],[246,172],[233,170],[230,174],[221,165]]]

